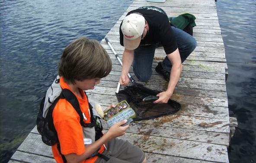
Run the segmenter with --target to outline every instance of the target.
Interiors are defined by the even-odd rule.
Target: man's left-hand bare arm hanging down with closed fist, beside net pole
[[[129,83],[128,73],[133,62],[134,58],[134,50],[125,49],[122,58],[122,72],[119,78],[119,82],[121,85],[127,85]]]

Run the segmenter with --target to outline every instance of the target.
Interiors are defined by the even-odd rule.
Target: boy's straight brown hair
[[[62,52],[58,73],[66,82],[106,77],[112,61],[106,50],[94,39],[77,38]]]

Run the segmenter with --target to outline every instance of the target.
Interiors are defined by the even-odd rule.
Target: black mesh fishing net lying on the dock
[[[167,103],[144,102],[147,96],[156,96],[160,91],[152,90],[141,84],[127,86],[125,89],[116,93],[118,102],[126,100],[132,109],[136,112],[134,121],[157,118],[163,115],[173,114],[180,109],[180,104],[174,100]]]

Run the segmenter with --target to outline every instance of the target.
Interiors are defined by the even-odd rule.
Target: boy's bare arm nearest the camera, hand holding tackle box
[[[86,151],[81,155],[77,155],[76,153],[70,153],[64,155],[68,163],[80,163],[86,158],[90,157],[95,151],[97,151],[103,144],[110,141],[112,138],[122,136],[125,134],[125,131],[129,128],[129,125],[121,126],[126,123],[127,120],[119,121],[111,128],[109,131],[104,134],[99,140],[93,142],[92,144],[86,145]]]

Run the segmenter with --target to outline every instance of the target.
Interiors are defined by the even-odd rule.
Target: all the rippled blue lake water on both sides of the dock
[[[79,36],[101,41],[130,0],[0,2],[0,162],[7,162],[35,126],[38,104],[64,47]],[[228,61],[230,115],[238,119],[230,163],[256,162],[256,3],[219,0]]]

